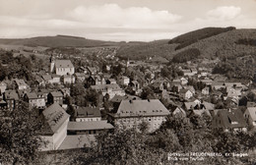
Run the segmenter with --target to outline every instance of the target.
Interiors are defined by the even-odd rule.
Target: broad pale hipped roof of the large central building
[[[166,116],[169,111],[159,99],[122,100],[114,117]]]

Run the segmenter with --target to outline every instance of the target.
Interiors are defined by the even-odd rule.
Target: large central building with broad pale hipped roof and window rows
[[[169,111],[159,99],[122,100],[116,113],[109,113],[109,121],[122,128],[138,128],[141,123],[149,125],[149,132],[160,128]]]

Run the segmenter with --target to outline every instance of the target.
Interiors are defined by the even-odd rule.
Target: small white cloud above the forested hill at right
[[[207,13],[207,16],[216,20],[232,20],[238,17],[241,13],[240,7],[221,6]]]

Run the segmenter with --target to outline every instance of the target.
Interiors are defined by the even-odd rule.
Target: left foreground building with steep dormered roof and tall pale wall
[[[67,137],[69,115],[58,104],[54,103],[42,111],[43,127],[40,138],[47,142],[40,150],[56,150]]]

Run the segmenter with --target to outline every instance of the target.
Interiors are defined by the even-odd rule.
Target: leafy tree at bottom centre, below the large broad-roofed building
[[[84,164],[159,164],[160,152],[150,150],[146,137],[136,129],[106,132],[96,136],[96,146]]]

